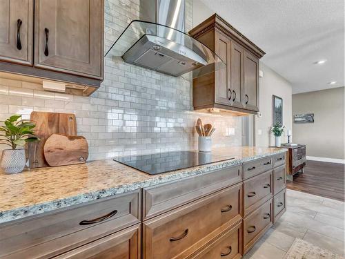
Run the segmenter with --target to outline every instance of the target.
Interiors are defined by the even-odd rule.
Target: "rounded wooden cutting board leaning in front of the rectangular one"
[[[82,164],[88,159],[88,142],[83,136],[52,134],[43,150],[50,166]]]

